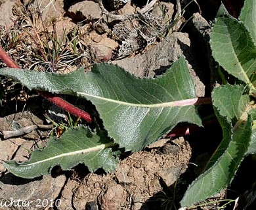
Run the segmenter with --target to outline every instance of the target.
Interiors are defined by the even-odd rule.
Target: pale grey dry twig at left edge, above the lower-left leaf
[[[51,129],[53,125],[29,125],[26,127],[22,127],[21,129],[18,129],[16,131],[2,131],[1,134],[3,135],[3,138],[13,138],[13,137],[20,137],[22,135],[26,135],[35,129]]]

